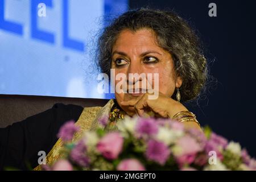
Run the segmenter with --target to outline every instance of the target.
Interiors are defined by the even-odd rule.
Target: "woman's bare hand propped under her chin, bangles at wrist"
[[[187,108],[180,102],[170,97],[164,96],[159,92],[159,96],[155,100],[148,99],[149,93],[145,93],[142,97],[135,100],[122,101],[121,105],[134,107],[139,116],[149,115],[148,112],[153,111],[156,116],[162,118],[173,118],[180,111],[186,111]],[[184,122],[185,127],[200,128],[195,122]]]

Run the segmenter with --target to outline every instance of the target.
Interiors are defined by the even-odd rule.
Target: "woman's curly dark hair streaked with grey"
[[[181,101],[199,96],[208,77],[207,60],[195,31],[184,19],[171,11],[137,9],[127,11],[105,27],[97,42],[96,64],[102,73],[110,75],[112,48],[122,30],[149,28],[158,45],[170,52],[176,75],[183,79],[179,88]],[[175,98],[173,94],[172,98]]]

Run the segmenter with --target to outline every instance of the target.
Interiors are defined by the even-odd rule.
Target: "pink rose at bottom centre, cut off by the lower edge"
[[[117,170],[118,171],[145,171],[145,168],[137,159],[125,159],[118,164]]]

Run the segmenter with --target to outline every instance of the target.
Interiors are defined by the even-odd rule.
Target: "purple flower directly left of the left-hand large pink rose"
[[[70,159],[81,167],[88,167],[89,158],[86,156],[86,149],[84,140],[80,140],[71,151]]]

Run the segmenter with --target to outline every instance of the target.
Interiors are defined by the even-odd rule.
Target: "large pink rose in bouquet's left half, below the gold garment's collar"
[[[101,154],[106,159],[116,159],[119,153],[122,151],[123,147],[123,138],[117,133],[109,133],[106,134],[97,144],[97,150],[101,152]]]

